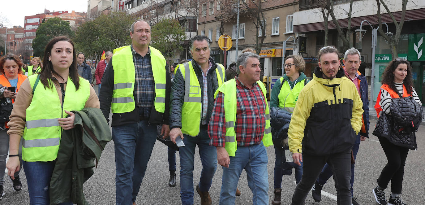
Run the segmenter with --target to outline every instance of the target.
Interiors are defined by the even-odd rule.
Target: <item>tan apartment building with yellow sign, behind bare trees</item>
[[[244,3],[246,2],[246,4]],[[204,1],[199,8],[198,14],[198,34],[206,35],[210,38],[211,56],[215,61],[224,63],[223,52],[218,46],[218,38],[222,34],[227,34],[232,37],[232,48],[227,51],[227,62],[229,65],[236,60],[236,52],[241,54],[244,48],[250,47],[255,49],[255,46],[263,38],[263,44],[260,51],[260,63],[264,68],[264,76],[280,77],[282,74],[282,56],[297,54],[297,42],[299,35],[293,31],[293,14],[298,11],[298,1],[294,0],[256,0],[258,6],[253,5],[251,1],[241,1],[239,14],[239,28],[236,29],[237,23],[237,6],[226,5],[224,0]],[[231,6],[235,9],[225,9],[226,6]],[[247,6],[249,8],[247,8]],[[265,26],[265,34],[261,36],[261,28],[257,29],[255,24],[258,20],[249,15],[247,10],[258,9],[261,17],[261,23]],[[225,22],[223,16],[227,14]],[[262,14],[262,15],[261,15]],[[263,18],[264,17],[264,18]],[[221,29],[221,27],[223,27]],[[239,33],[238,39],[236,34]],[[286,43],[286,51],[283,50],[283,41],[289,36],[294,37],[294,40],[288,40]],[[235,50],[236,41],[238,41],[238,51]]]

